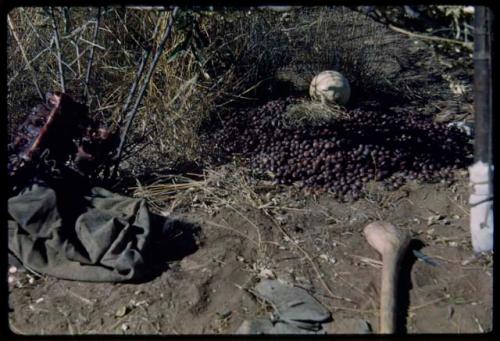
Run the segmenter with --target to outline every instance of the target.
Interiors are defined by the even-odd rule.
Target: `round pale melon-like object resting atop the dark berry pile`
[[[351,86],[340,72],[323,71],[313,78],[309,95],[313,99],[345,105],[351,96]]]

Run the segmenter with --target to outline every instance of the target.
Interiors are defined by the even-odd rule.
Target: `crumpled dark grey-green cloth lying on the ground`
[[[151,239],[145,201],[72,187],[34,183],[9,199],[10,252],[27,268],[63,279],[141,278]]]

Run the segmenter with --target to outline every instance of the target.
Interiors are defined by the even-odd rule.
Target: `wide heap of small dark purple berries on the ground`
[[[299,127],[285,114],[297,101],[279,99],[222,117],[219,155],[240,155],[279,184],[295,182],[339,199],[357,199],[371,180],[389,190],[406,179],[448,181],[471,162],[469,137],[432,117],[355,109],[348,120]]]

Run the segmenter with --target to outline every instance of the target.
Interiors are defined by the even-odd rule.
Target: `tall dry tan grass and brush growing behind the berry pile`
[[[9,133],[53,90],[65,90],[110,124],[123,125],[127,99],[134,103],[139,96],[131,92],[137,83],[136,89],[144,85],[146,91],[127,140],[125,165],[146,171],[179,161],[203,164],[206,141],[200,131],[209,131],[207,120],[217,119],[221,111],[300,90],[300,82],[309,84],[324,69],[345,74],[353,98],[385,91],[394,85],[398,58],[404,56],[401,36],[343,7],[286,13],[182,8],[144,84],[139,66],[150,65],[170,15],[169,10],[123,7],[11,11]],[[322,109],[306,111],[313,116]],[[339,113],[325,110],[334,112]]]

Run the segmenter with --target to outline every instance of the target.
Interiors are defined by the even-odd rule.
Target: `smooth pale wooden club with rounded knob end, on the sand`
[[[410,236],[407,231],[384,221],[367,225],[363,232],[368,243],[382,255],[379,330],[382,334],[391,334],[396,330],[400,265],[410,243]]]

